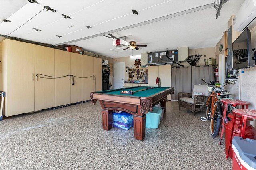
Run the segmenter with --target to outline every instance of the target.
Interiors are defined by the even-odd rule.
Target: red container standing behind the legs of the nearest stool
[[[231,118],[231,121],[229,121],[225,125],[225,153],[226,154],[228,153],[228,146],[230,144],[232,121],[234,119],[233,113],[228,114],[228,117]],[[252,118],[247,118],[244,138],[256,139],[256,129],[250,124],[250,121],[253,121],[253,120],[254,119]],[[241,125],[242,125],[242,118],[237,115],[232,138],[234,138],[234,136],[239,136],[239,137],[241,136],[241,128],[242,128]],[[231,150],[231,147],[229,150],[230,152],[228,154],[228,157],[232,159],[233,151]]]

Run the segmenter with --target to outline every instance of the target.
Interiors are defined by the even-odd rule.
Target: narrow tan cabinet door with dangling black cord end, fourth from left
[[[74,85],[71,80],[71,103],[83,101],[83,79],[78,78],[83,77],[83,55],[71,53],[71,74],[77,76],[74,77]]]

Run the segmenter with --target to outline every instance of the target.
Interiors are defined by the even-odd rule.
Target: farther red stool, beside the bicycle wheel
[[[221,145],[221,140],[222,140],[223,133],[224,133],[225,117],[227,115],[228,104],[240,105],[240,106],[242,106],[242,109],[244,109],[244,106],[246,106],[246,109],[248,109],[248,105],[250,105],[250,103],[247,101],[241,101],[241,100],[236,100],[236,99],[221,99],[220,101],[223,103],[222,111],[224,110],[224,112],[223,112],[224,114],[222,117],[222,127],[221,127],[219,145]],[[234,119],[234,120],[236,120],[236,119]]]

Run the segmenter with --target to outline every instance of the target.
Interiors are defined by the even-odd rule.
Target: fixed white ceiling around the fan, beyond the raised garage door
[[[136,41],[137,44],[146,43],[148,45],[138,51],[133,51],[134,55],[147,51],[164,51],[166,48],[176,49],[184,46],[188,46],[190,49],[214,47],[223,36],[224,30],[227,29],[230,16],[238,11],[242,3],[243,1],[228,1],[223,5],[217,20],[215,19],[216,10],[209,8],[117,33],[122,36],[132,34],[132,36],[127,37],[127,42]],[[118,47],[112,45],[112,42],[113,39],[110,38],[96,37],[72,44],[81,46],[86,51],[112,57],[113,51],[110,49],[119,51]],[[131,51],[120,51],[115,53],[115,57],[125,57],[131,54]]]

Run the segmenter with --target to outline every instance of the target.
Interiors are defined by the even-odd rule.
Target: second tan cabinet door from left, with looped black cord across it
[[[43,75],[54,76],[54,49],[34,46],[35,59],[35,111],[55,106],[55,81]],[[36,77],[36,74],[40,77]]]

